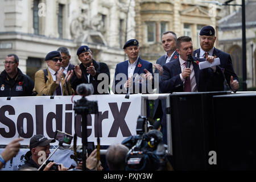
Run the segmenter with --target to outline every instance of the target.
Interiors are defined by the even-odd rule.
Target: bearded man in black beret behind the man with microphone
[[[220,67],[224,72],[226,87],[229,87],[234,92],[239,88],[238,77],[234,72],[232,59],[230,55],[226,52],[223,52],[214,47],[216,41],[215,30],[212,26],[205,26],[200,31],[200,48],[194,51],[193,55],[195,57],[204,58],[209,56],[219,57],[220,58]],[[228,88],[228,89],[229,89]],[[227,89],[227,88],[225,88]]]

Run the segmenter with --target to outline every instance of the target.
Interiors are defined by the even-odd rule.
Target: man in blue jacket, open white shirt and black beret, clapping
[[[115,67],[113,93],[149,93],[147,84],[152,85],[152,63],[139,57],[140,48],[136,39],[128,40],[123,46],[123,50],[127,54],[128,60],[118,63]]]

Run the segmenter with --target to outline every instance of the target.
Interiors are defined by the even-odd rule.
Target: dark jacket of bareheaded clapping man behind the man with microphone
[[[177,53],[177,51],[174,52],[174,55],[172,55],[171,57],[171,61],[177,59],[177,57],[179,57],[179,53]],[[162,67],[164,64],[166,64],[166,55],[163,55],[161,57],[159,57],[157,60],[156,60],[156,64],[160,64]],[[155,72],[154,72],[154,75],[155,73],[159,73],[159,71],[157,69],[155,69]],[[161,80],[161,76],[159,75],[159,81],[158,81],[158,84]],[[159,89],[159,93],[162,93],[161,90]],[[158,105],[160,105],[158,107]],[[166,109],[166,100],[164,99],[157,99],[155,100],[155,106],[154,106],[154,119],[156,118],[161,118],[162,117],[162,114],[163,114],[163,111]]]

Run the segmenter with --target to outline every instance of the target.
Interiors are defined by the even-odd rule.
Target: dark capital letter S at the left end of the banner
[[[9,127],[9,132],[6,132],[4,128],[0,128],[0,134],[5,138],[13,138],[16,133],[15,123],[5,116],[6,111],[8,111],[9,115],[15,115],[13,106],[5,105],[0,108],[0,122]]]

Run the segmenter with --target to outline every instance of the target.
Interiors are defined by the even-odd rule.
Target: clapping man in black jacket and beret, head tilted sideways
[[[94,60],[88,46],[79,47],[76,54],[81,64],[74,68],[75,75],[71,79],[72,88],[76,90],[77,85],[90,83],[94,88],[93,94],[109,94],[110,72],[108,65]],[[106,84],[98,87],[101,81]]]

